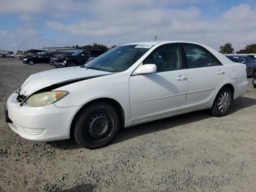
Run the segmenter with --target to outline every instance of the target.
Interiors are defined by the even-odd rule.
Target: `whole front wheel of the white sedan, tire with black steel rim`
[[[76,118],[74,138],[88,149],[109,144],[120,129],[120,116],[111,104],[97,102],[82,110]]]

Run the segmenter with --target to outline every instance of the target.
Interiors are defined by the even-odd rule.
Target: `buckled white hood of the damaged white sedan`
[[[22,84],[20,94],[28,96],[38,90],[55,85],[54,88],[73,82],[113,74],[111,72],[86,69],[82,67],[68,67],[48,70],[30,75]],[[57,85],[57,86],[56,86]]]

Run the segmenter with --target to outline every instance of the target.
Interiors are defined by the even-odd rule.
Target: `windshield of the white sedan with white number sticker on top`
[[[122,72],[130,68],[152,45],[118,46],[82,67],[108,72]]]

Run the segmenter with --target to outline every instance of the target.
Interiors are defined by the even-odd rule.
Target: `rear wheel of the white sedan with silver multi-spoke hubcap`
[[[224,105],[223,105],[223,102],[224,102]],[[210,109],[210,113],[216,117],[225,116],[228,113],[228,110],[230,109],[231,104],[232,104],[232,93],[230,89],[227,87],[222,87],[218,92],[218,94],[216,95],[212,108]]]

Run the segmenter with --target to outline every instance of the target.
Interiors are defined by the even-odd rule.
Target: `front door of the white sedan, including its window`
[[[156,64],[157,71],[130,77],[132,121],[185,110],[187,70],[182,68],[179,44],[156,48],[142,64]]]

